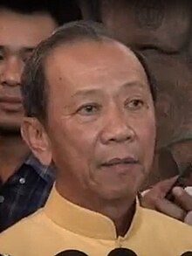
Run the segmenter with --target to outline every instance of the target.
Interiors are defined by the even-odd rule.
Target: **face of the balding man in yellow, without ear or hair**
[[[45,63],[47,133],[64,190],[135,196],[154,154],[154,104],[132,52],[117,43],[60,46]]]

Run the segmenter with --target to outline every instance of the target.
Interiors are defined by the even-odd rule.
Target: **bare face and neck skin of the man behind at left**
[[[49,14],[0,9],[0,179],[5,182],[30,152],[20,136],[21,73],[33,48],[56,27]]]

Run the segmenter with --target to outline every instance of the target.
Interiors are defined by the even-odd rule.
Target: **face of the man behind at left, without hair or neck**
[[[0,10],[0,131],[19,130],[23,117],[19,87],[24,62],[55,27],[48,14]]]

